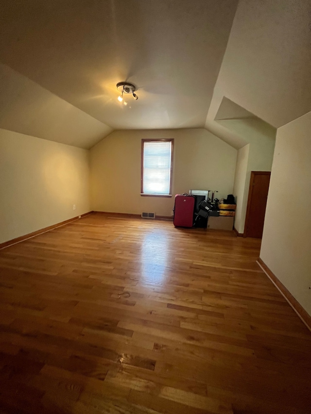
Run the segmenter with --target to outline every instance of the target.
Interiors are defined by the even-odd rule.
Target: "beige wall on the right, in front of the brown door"
[[[311,315],[311,112],[277,130],[260,258]]]

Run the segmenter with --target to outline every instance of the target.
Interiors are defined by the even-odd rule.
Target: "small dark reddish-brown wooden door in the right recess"
[[[252,171],[251,173],[244,237],[262,237],[270,175],[270,171]]]

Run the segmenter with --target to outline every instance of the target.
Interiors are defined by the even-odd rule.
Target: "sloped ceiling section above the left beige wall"
[[[2,64],[0,126],[85,149],[112,132],[112,128]]]

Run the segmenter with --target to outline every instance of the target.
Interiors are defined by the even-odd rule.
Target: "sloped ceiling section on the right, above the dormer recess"
[[[275,128],[309,112],[310,16],[310,0],[239,0],[215,86],[218,106],[225,96]]]

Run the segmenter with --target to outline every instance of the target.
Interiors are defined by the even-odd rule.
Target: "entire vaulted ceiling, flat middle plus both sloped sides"
[[[277,127],[309,107],[308,4],[0,0],[0,128],[90,148],[115,129],[212,130],[224,97]]]

